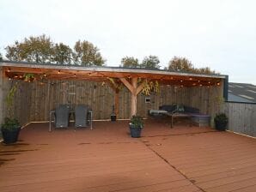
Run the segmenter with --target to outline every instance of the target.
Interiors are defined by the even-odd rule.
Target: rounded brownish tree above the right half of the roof
[[[168,70],[170,71],[174,70],[192,72],[193,69],[192,63],[185,57],[174,57],[171,61],[169,61],[168,65]]]

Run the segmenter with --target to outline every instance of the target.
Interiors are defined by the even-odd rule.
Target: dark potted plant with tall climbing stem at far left
[[[9,117],[4,118],[4,122],[1,124],[1,130],[3,135],[3,142],[6,144],[16,142],[21,130],[20,123],[13,116],[12,105],[15,97],[18,82],[10,88],[6,97],[6,105],[9,113]]]

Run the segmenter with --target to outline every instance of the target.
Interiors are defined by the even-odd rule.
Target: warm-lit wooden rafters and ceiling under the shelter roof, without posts
[[[16,74],[33,73],[34,75],[46,74],[48,79],[76,79],[76,80],[88,80],[92,81],[105,81],[104,78],[118,78],[118,79],[131,79],[142,78],[149,81],[158,81],[159,84],[169,85],[182,85],[186,87],[193,87],[192,84],[196,83],[197,86],[202,84],[207,86],[208,81],[213,82],[212,85],[221,81],[223,76],[214,75],[192,75],[184,73],[174,73],[165,71],[151,71],[151,70],[135,70],[135,69],[102,69],[97,68],[83,68],[79,67],[66,67],[66,66],[47,66],[47,65],[31,65],[31,67],[21,67],[19,64],[9,64],[9,66],[3,66],[4,71],[8,71],[8,76],[12,77]],[[27,65],[26,65],[27,66]],[[91,69],[91,70],[89,70]],[[101,69],[101,68],[100,68]],[[150,73],[149,73],[150,72]],[[13,74],[13,75],[10,75]],[[201,83],[197,83],[201,81]],[[130,87],[131,88],[131,87]]]

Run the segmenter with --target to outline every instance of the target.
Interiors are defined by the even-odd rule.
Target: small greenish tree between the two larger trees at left
[[[52,62],[61,64],[70,64],[73,51],[70,46],[63,43],[55,44],[53,47]]]

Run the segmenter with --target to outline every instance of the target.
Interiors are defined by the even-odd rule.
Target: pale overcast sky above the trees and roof
[[[186,57],[229,81],[256,85],[255,8],[254,0],[1,0],[0,52],[46,34],[70,47],[88,40],[107,66],[154,55],[163,69]]]

